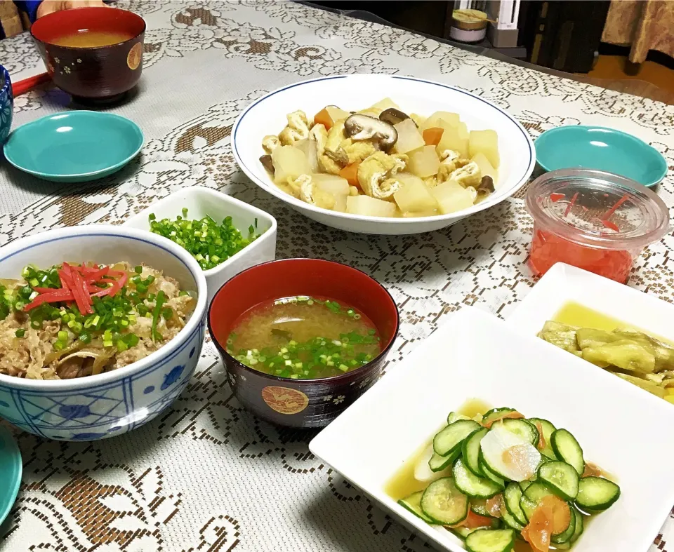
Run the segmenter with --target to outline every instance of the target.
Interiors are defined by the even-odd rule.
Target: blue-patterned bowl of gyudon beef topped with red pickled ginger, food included
[[[183,248],[75,227],[0,248],[0,416],[59,440],[131,431],[167,408],[204,339],[206,281]]]

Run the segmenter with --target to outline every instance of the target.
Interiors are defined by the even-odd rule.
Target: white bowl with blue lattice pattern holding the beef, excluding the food
[[[0,417],[57,440],[97,440],[136,429],[173,403],[190,381],[204,342],[206,278],[175,243],[127,227],[81,226],[46,231],[0,248],[0,277],[18,278],[29,263],[49,267],[80,260],[145,263],[197,292],[185,327],[158,351],[103,374],[41,381],[0,374]]]

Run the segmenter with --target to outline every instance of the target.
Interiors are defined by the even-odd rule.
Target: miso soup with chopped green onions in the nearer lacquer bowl
[[[358,309],[326,297],[285,297],[235,321],[227,353],[270,375],[315,379],[366,365],[381,353],[381,339]]]

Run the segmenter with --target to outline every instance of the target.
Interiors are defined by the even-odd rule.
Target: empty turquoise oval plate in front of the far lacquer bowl
[[[16,168],[52,182],[86,182],[121,169],[143,147],[133,121],[112,113],[47,115],[14,130],[4,146]]]

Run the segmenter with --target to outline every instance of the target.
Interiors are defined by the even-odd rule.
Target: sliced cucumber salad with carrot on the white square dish
[[[513,408],[474,418],[451,412],[414,479],[428,486],[399,504],[447,527],[470,552],[508,552],[517,540],[534,552],[568,550],[588,517],[620,497],[569,431]]]

